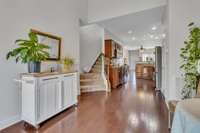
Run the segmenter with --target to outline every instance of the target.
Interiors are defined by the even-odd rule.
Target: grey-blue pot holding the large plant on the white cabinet
[[[28,72],[29,73],[39,73],[41,68],[41,62],[29,62],[28,63]]]

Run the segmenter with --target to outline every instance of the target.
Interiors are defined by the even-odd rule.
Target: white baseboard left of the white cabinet
[[[3,120],[3,121],[0,121],[0,131],[4,128],[7,128],[11,125],[14,125],[18,122],[21,121],[21,116],[20,115],[17,115],[17,116],[14,116],[14,117],[11,117],[7,120]]]

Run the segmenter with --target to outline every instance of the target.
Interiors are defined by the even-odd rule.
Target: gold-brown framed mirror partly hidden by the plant
[[[50,47],[50,49],[47,50],[47,52],[49,53],[49,58],[47,60],[60,60],[61,37],[34,29],[31,29],[31,31],[37,34],[39,43],[46,44]]]

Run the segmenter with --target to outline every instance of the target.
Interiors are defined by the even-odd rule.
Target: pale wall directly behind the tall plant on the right
[[[168,0],[168,88],[167,99],[180,99],[183,81],[181,77],[180,48],[184,47],[184,40],[188,36],[187,25],[195,22],[200,25],[200,1],[198,0]]]

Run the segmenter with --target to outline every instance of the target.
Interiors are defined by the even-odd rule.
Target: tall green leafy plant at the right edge
[[[184,42],[185,47],[181,48],[182,65],[181,69],[184,71],[184,87],[182,89],[183,99],[190,98],[192,91],[197,88],[198,72],[197,64],[200,59],[200,28],[194,23],[188,25],[190,35]]]

